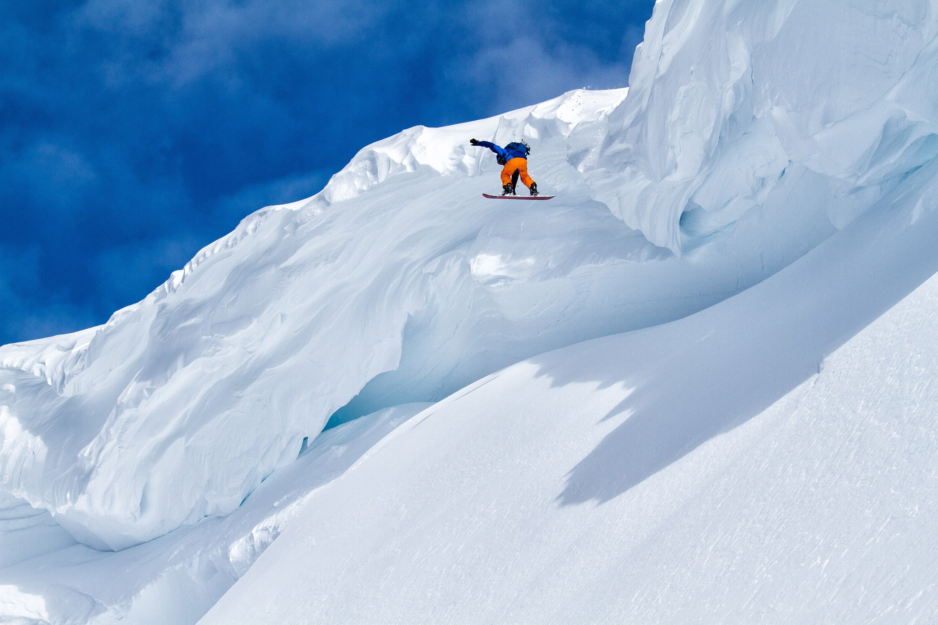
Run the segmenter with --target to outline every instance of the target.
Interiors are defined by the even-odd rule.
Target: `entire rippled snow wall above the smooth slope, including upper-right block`
[[[330,416],[764,280],[936,149],[930,4],[824,5],[663,0],[628,96],[405,130],[105,325],[3,348],[0,491],[123,549],[231,513]],[[474,136],[530,142],[557,197],[482,200]]]

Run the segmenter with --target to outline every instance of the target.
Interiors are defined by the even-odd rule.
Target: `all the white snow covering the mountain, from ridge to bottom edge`
[[[0,348],[0,619],[927,620],[936,10],[659,0]]]

